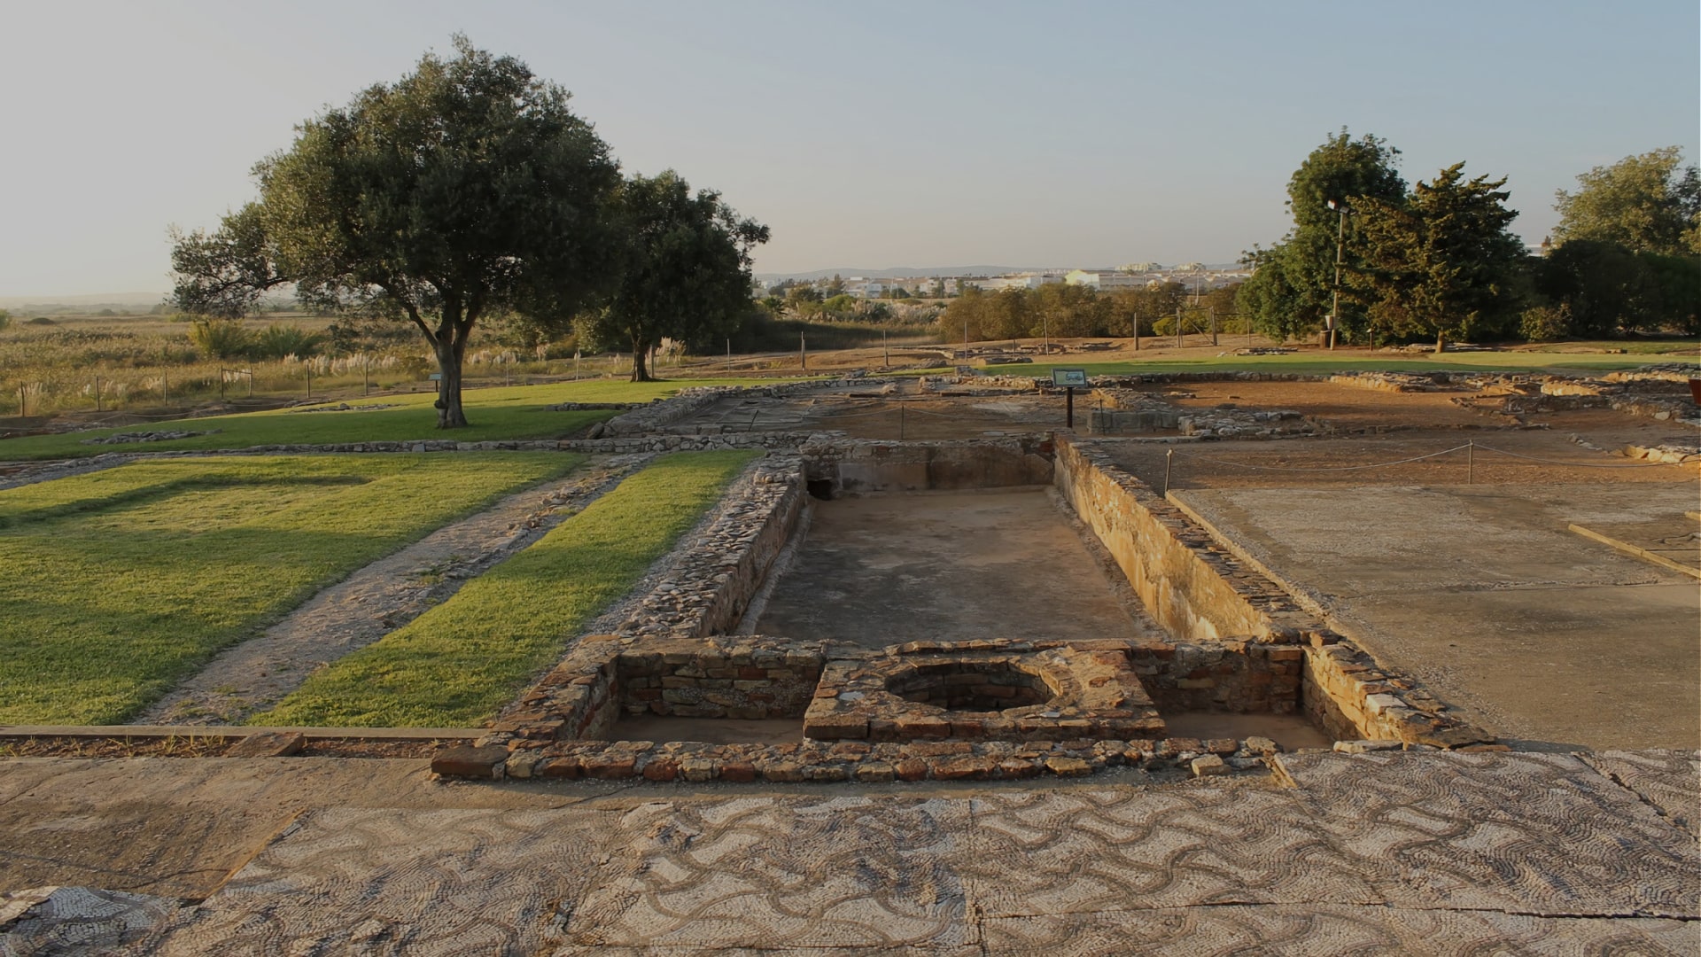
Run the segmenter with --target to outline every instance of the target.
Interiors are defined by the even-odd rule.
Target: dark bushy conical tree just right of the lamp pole
[[[1509,230],[1517,211],[1505,208],[1502,186],[1505,177],[1468,181],[1465,163],[1453,163],[1410,198],[1361,203],[1363,262],[1351,283],[1378,327],[1432,335],[1439,352],[1449,334],[1516,305],[1526,254]]]

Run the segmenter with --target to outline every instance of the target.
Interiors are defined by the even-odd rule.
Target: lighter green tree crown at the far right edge
[[[1664,255],[1701,252],[1701,172],[1682,167],[1682,158],[1681,148],[1665,146],[1579,175],[1577,192],[1555,192],[1553,238]]]

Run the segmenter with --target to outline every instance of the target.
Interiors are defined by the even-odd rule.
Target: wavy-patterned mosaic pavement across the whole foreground
[[[313,759],[269,766],[289,761]],[[124,765],[160,824],[180,809],[162,785],[197,773],[7,765],[36,783],[0,812]],[[0,955],[1701,952],[1694,751],[1303,753],[1267,778],[930,792],[592,795],[427,785],[417,763],[383,765],[415,805],[362,805],[379,783],[318,788],[199,904],[0,897]],[[68,821],[60,804],[0,817],[0,879],[29,848],[51,857],[51,834],[99,826],[99,805]]]

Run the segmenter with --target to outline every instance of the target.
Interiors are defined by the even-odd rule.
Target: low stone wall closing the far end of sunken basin
[[[873,441],[813,436],[801,450],[808,480],[832,494],[998,489],[1051,484],[1051,439],[1024,434],[968,441]]]

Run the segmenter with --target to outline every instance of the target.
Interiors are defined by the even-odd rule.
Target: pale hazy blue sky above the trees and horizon
[[[771,225],[764,272],[1233,261],[1342,126],[1509,175],[1529,242],[1579,172],[1701,155],[1696,0],[0,0],[0,295],[167,289],[168,225],[454,31]]]

